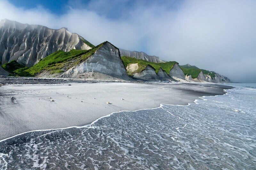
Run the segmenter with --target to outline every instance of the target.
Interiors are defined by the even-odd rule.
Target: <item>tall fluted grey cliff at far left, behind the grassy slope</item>
[[[16,60],[28,67],[58,50],[88,50],[92,45],[66,28],[50,29],[42,25],[21,24],[7,19],[0,21],[0,61]]]

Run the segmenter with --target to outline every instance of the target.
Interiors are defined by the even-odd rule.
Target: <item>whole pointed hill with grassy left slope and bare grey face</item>
[[[118,48],[103,42],[90,50],[57,51],[34,66],[13,71],[19,76],[131,80]]]

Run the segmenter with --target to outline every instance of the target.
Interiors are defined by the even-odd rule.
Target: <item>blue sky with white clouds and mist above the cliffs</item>
[[[256,82],[255,0],[0,0],[0,19],[66,27],[166,61]]]

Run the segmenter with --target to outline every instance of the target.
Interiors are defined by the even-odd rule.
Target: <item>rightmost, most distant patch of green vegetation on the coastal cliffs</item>
[[[197,78],[199,73],[202,71],[205,75],[210,75],[212,78],[215,77],[215,72],[214,71],[208,71],[204,69],[200,69],[196,66],[188,66],[188,65],[183,65],[180,66],[180,68],[183,70],[185,75],[191,75],[192,79]]]

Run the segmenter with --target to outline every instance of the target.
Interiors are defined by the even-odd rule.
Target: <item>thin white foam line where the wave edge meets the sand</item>
[[[231,86],[232,87],[232,86]],[[225,91],[226,93],[223,94],[223,95],[226,95],[227,93],[231,93],[231,92],[228,92],[226,89],[223,89],[223,91]],[[215,95],[215,96],[222,96],[222,95]],[[202,96],[202,97],[199,97],[200,99],[202,100],[207,100],[207,99],[204,99],[204,97],[215,97],[215,96]],[[71,128],[84,128],[84,127],[88,127],[88,128],[91,128],[92,124],[96,123],[98,120],[104,118],[104,117],[109,117],[111,116],[112,114],[114,113],[120,113],[120,112],[136,112],[136,111],[140,111],[140,110],[154,110],[154,109],[159,109],[159,108],[162,108],[162,106],[164,105],[167,105],[167,106],[189,106],[191,104],[199,104],[197,103],[198,100],[200,99],[196,99],[194,101],[194,103],[188,103],[188,105],[179,105],[179,104],[160,104],[159,107],[156,107],[156,108],[152,108],[152,109],[139,109],[139,110],[123,110],[123,111],[118,111],[118,112],[113,112],[113,113],[110,113],[109,115],[106,115],[106,116],[103,116],[103,117],[100,117],[98,119],[96,119],[95,121],[93,121],[91,124],[87,124],[87,125],[84,125],[84,126],[70,126],[70,127],[66,127],[66,128],[58,128],[58,129],[44,129],[44,130],[33,130],[33,131],[27,131],[27,132],[23,132],[23,133],[20,133],[20,134],[17,134],[17,135],[14,135],[12,137],[9,137],[9,138],[6,138],[6,139],[2,139],[0,140],[0,143],[5,141],[5,140],[8,140],[8,139],[11,139],[11,138],[14,138],[14,137],[17,137],[17,136],[20,136],[20,135],[23,135],[23,134],[26,134],[26,133],[30,133],[30,132],[36,132],[36,131],[58,131],[58,130],[63,130],[63,129],[71,129]],[[51,132],[50,132],[51,133]],[[46,135],[46,134],[44,134]],[[42,135],[42,136],[44,136]]]

